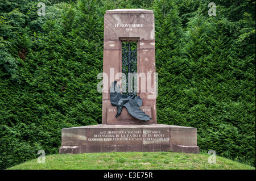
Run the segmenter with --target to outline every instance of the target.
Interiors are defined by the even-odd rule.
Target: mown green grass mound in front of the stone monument
[[[9,169],[172,169],[172,170],[222,170],[239,169],[255,170],[255,167],[245,165],[228,158],[216,156],[216,163],[209,163],[208,154],[185,154],[171,152],[110,152],[84,154],[53,154],[46,155],[45,163],[38,163],[38,159],[24,162]]]

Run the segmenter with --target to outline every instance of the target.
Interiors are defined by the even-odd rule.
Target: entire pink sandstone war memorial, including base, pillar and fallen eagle
[[[152,10],[109,10],[104,22],[102,124],[61,130],[59,153],[199,153],[196,128],[157,124]]]

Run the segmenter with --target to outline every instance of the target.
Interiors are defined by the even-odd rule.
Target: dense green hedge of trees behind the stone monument
[[[0,169],[56,154],[61,128],[101,124],[105,10],[154,10],[158,123],[255,166],[255,1],[0,0]]]

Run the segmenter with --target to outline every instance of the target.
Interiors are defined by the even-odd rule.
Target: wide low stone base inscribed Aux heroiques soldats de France
[[[64,128],[59,153],[174,151],[199,153],[196,128],[176,125],[90,125]]]

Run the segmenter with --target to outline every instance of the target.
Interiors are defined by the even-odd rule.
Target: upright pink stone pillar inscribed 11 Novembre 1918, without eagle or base
[[[130,116],[126,108],[120,116],[113,116],[116,112],[110,103],[109,86],[121,80],[117,73],[122,73],[122,41],[137,42],[137,96],[143,100],[141,110],[152,117],[147,122]],[[103,72],[108,76],[103,79],[102,124],[156,124],[155,23],[152,10],[106,11]]]

